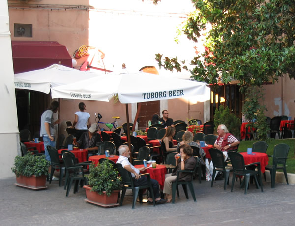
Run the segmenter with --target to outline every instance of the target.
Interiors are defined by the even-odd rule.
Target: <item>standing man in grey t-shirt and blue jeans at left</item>
[[[47,146],[56,147],[56,129],[55,125],[60,123],[60,119],[54,121],[53,114],[59,110],[59,102],[53,101],[48,110],[41,115],[40,137],[43,137],[45,159],[51,162]],[[51,172],[51,165],[49,166],[49,173]],[[59,178],[53,177],[53,180]]]

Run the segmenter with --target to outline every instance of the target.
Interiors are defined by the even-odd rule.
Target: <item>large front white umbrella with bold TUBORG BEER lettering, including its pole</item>
[[[127,136],[130,148],[128,103],[197,96],[210,99],[210,88],[205,83],[177,79],[167,75],[145,72],[135,74],[108,74],[51,89],[52,98],[109,101],[118,94],[126,104]],[[130,161],[132,161],[130,156]]]

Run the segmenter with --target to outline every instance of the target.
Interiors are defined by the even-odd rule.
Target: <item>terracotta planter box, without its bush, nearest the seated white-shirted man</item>
[[[84,185],[83,188],[85,188],[86,197],[85,199],[87,202],[90,202],[92,204],[96,204],[103,207],[115,207],[119,204],[117,203],[118,200],[118,193],[120,190],[114,190],[111,194],[111,196],[107,196],[106,192],[103,192],[103,194],[99,194],[98,192],[92,192],[90,191],[92,188],[89,187],[89,185]]]

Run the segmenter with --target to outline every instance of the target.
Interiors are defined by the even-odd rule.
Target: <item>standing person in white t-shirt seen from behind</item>
[[[87,132],[87,129],[91,125],[90,121],[90,114],[88,112],[85,112],[86,110],[86,105],[83,102],[80,102],[78,105],[80,111],[75,112],[75,119],[72,125],[72,129],[76,128],[76,133],[75,137],[77,141],[79,140],[80,136],[84,133]],[[88,125],[87,125],[88,123]]]

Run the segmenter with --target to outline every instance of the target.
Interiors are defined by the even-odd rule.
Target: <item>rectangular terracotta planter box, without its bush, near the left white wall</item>
[[[46,186],[46,176],[16,176],[16,185],[31,189],[44,189]]]

